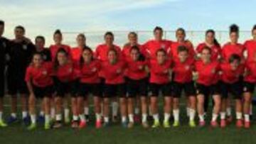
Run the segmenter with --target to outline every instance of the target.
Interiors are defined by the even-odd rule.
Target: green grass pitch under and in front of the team
[[[9,107],[5,109],[7,114]],[[92,115],[92,117],[94,116]],[[0,128],[0,143],[256,143],[255,120],[252,120],[252,128],[249,130],[235,128],[235,121],[225,129],[213,129],[209,126],[210,117],[209,110],[208,126],[205,128],[190,128],[188,127],[188,118],[186,118],[185,114],[185,106],[183,105],[181,106],[181,126],[178,128],[144,129],[137,124],[132,129],[126,129],[122,128],[119,123],[112,123],[108,128],[95,129],[95,123],[92,120],[88,123],[87,128],[82,130],[64,126],[60,129],[45,131],[43,125],[39,125],[35,131],[27,131],[26,127],[21,123],[14,123],[7,128]]]

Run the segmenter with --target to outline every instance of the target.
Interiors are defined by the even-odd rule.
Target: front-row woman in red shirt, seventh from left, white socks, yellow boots
[[[195,127],[196,115],[196,90],[193,83],[192,72],[194,70],[194,60],[188,58],[188,48],[181,45],[178,47],[178,61],[173,65],[173,94],[174,96],[174,127],[179,126],[179,99],[184,90],[189,103],[189,126]]]

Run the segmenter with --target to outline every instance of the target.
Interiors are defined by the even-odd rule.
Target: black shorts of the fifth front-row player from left
[[[126,80],[127,84],[127,96],[134,98],[135,96],[146,96],[148,81],[147,79],[129,79]]]

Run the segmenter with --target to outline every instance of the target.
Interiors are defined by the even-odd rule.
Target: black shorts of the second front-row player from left
[[[56,79],[54,84],[56,96],[60,97],[64,97],[65,94],[71,94],[72,97],[77,96],[78,87],[78,80],[74,80],[72,82],[60,82],[60,80]]]

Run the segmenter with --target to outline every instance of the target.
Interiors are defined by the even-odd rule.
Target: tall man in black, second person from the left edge
[[[7,68],[7,87],[11,95],[11,116],[9,123],[17,121],[17,95],[21,96],[22,118],[25,124],[29,123],[28,116],[28,89],[25,82],[26,68],[31,62],[36,48],[30,40],[24,37],[25,28],[16,26],[15,39],[11,40],[8,49],[9,62]]]

